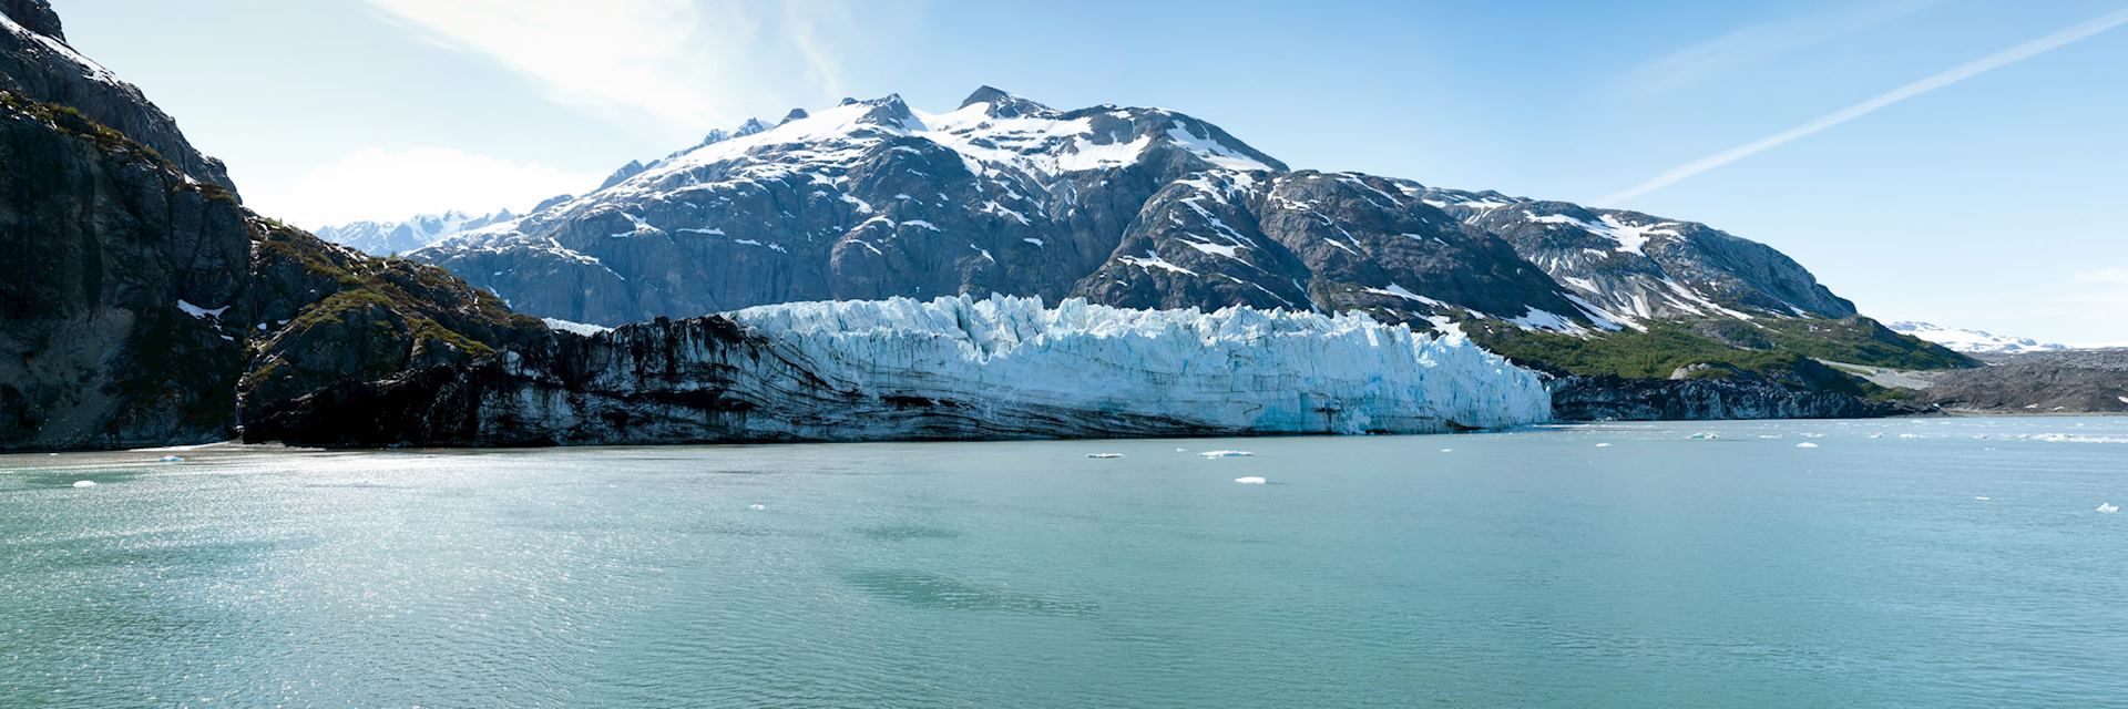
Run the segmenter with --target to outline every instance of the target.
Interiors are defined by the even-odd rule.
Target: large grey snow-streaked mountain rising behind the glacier
[[[1700,224],[1290,170],[1183,113],[992,87],[947,113],[887,96],[719,130],[415,258],[589,324],[938,294],[1564,332],[1853,315],[1779,251]]]

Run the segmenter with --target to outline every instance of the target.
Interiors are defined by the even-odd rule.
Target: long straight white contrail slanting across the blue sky
[[[1796,126],[1796,128],[1790,128],[1790,130],[1764,136],[1764,138],[1758,138],[1758,141],[1751,141],[1751,143],[1745,143],[1745,145],[1739,145],[1739,147],[1732,147],[1732,149],[1726,149],[1726,151],[1719,151],[1719,153],[1713,153],[1713,155],[1707,155],[1707,158],[1700,158],[1700,160],[1694,160],[1694,162],[1688,162],[1688,164],[1681,164],[1677,168],[1670,168],[1668,172],[1656,175],[1656,179],[1649,179],[1645,183],[1632,185],[1626,192],[1605,196],[1602,200],[1596,200],[1596,202],[1598,204],[1617,204],[1617,202],[1624,202],[1624,200],[1630,200],[1630,198],[1636,198],[1636,196],[1643,196],[1643,194],[1649,194],[1649,192],[1675,185],[1677,181],[1683,181],[1685,177],[1700,175],[1700,172],[1726,166],[1730,162],[1758,155],[1758,153],[1762,153],[1766,149],[1773,149],[1773,147],[1779,147],[1783,143],[1809,136],[1813,132],[1819,132],[1819,130],[1826,130],[1826,128],[1832,128],[1832,126],[1839,126],[1839,123],[1847,123],[1847,121],[1858,119],[1858,117],[1864,117],[1864,115],[1868,115],[1868,113],[1873,113],[1877,109],[1883,109],[1883,106],[1902,102],[1907,98],[1915,98],[1915,96],[1922,96],[1922,94],[1928,94],[1928,92],[1934,92],[1934,89],[1941,89],[1941,87],[1947,87],[1947,85],[1954,85],[1954,83],[1979,77],[1979,75],[1983,75],[1983,72],[1988,72],[1992,68],[2015,64],[2017,60],[2034,57],[2034,55],[2041,55],[2041,53],[2047,53],[2047,51],[2073,45],[2073,43],[2077,43],[2081,38],[2088,38],[2092,34],[2119,28],[2124,23],[2128,23],[2128,9],[2119,9],[2119,11],[2113,11],[2113,13],[2107,13],[2107,15],[2098,15],[2096,19],[2071,26],[2066,30],[2041,36],[2036,40],[2030,40],[2030,43],[2024,43],[2024,45],[2017,45],[2017,47],[2011,47],[2011,49],[2002,49],[2002,51],[1996,51],[1992,55],[1985,55],[1985,57],[1960,64],[1958,68],[1945,70],[1941,75],[1934,75],[1934,77],[1928,77],[1928,79],[1922,79],[1922,81],[1915,81],[1915,83],[1890,89],[1890,92],[1885,92],[1885,94],[1881,94],[1877,98],[1864,100],[1860,104],[1826,113],[1826,115],[1822,115],[1822,117],[1817,117],[1817,119],[1813,119],[1809,123],[1802,123],[1802,126]]]

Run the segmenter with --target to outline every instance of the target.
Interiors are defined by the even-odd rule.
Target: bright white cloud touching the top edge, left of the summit
[[[866,47],[855,15],[885,11],[836,0],[368,2],[432,43],[541,83],[555,102],[687,134],[838,98],[843,51]]]

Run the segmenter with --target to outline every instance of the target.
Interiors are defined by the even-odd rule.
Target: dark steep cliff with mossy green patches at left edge
[[[189,147],[162,111],[85,75],[94,64],[57,36],[30,34],[57,28],[43,2],[0,9],[13,62],[0,75],[0,260],[36,264],[0,279],[0,449],[223,441],[240,409],[547,336],[438,268],[370,260],[243,209],[217,162],[177,160]],[[15,89],[81,81],[102,87],[74,94],[94,113],[162,145]]]

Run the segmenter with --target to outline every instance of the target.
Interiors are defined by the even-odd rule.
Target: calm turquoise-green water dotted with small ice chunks
[[[0,705],[2128,703],[2119,417],[160,456],[0,458]]]

